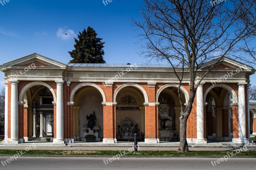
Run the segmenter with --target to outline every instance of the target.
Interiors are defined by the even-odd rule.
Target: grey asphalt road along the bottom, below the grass
[[[0,161],[10,157],[0,157]],[[256,169],[255,158],[229,158],[220,164],[213,165],[211,161],[218,158],[119,158],[112,162],[103,160],[109,158],[86,158],[86,157],[18,157],[7,163],[0,164],[0,169],[96,169],[96,170],[156,170],[156,169]]]

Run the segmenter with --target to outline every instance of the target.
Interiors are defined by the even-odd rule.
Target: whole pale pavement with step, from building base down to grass
[[[23,144],[0,144],[0,149],[23,149],[36,145],[37,150],[128,150],[134,146],[133,142],[118,142],[117,144],[103,144],[102,142],[75,142],[74,144],[53,144],[46,141],[30,141]],[[161,142],[159,144],[145,144],[138,142],[141,151],[177,151],[180,142]],[[190,151],[232,151],[242,147],[232,142],[209,142],[208,144],[188,144]],[[256,145],[246,144],[248,151],[256,151]]]

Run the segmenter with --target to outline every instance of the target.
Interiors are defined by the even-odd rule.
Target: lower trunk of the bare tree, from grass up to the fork
[[[181,113],[181,115],[184,115]],[[187,142],[187,121],[188,117],[180,117],[180,148],[178,152],[189,152]]]

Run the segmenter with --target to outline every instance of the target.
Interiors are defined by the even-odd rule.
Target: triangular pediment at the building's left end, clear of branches
[[[30,65],[35,65],[36,67],[60,67],[66,68],[67,65],[47,58],[39,54],[31,54],[25,57],[4,63],[4,67],[27,67]]]

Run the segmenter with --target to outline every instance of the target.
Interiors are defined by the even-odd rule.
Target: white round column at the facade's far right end
[[[246,139],[246,113],[245,113],[245,90],[247,83],[237,83],[238,85],[238,143],[249,143]]]

